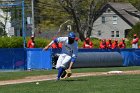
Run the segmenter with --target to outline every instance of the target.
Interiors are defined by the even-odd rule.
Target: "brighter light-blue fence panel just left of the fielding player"
[[[39,48],[26,49],[27,69],[52,69],[51,49],[43,51]]]

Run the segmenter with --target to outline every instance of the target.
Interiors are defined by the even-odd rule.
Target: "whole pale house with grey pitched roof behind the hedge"
[[[130,3],[107,3],[93,24],[91,37],[126,38],[130,29],[140,22],[140,11]]]

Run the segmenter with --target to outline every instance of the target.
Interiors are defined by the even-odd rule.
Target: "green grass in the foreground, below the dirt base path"
[[[139,93],[140,75],[71,78],[0,86],[0,93]]]

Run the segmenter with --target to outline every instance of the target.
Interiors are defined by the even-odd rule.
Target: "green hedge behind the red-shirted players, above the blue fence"
[[[26,42],[30,37],[26,38]],[[96,38],[91,38],[94,48],[99,48],[100,40]],[[126,48],[131,48],[131,41],[126,40]],[[44,48],[47,44],[51,42],[51,39],[35,38],[36,48]],[[140,45],[140,43],[139,43]],[[82,48],[83,42],[78,41],[79,48]],[[0,37],[0,48],[23,48],[23,38],[22,37]]]

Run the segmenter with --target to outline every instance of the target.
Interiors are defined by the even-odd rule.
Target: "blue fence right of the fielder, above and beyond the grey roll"
[[[122,56],[122,66],[140,66],[140,49],[79,49],[79,52],[118,52]]]

